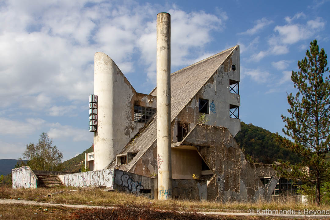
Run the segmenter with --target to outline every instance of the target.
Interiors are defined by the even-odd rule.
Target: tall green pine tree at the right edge
[[[298,92],[287,96],[291,116],[281,115],[285,122],[282,131],[294,142],[277,134],[281,144],[300,154],[302,160],[295,165],[284,163],[276,169],[285,178],[315,185],[315,203],[320,205],[320,184],[328,181],[330,174],[330,83],[324,49],[319,51],[316,40],[310,44],[307,57],[298,61],[299,71],[292,71],[291,80]]]

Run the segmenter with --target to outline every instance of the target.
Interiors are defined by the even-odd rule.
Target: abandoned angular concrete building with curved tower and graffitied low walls
[[[240,131],[239,46],[169,77],[170,93],[157,87],[149,94],[138,93],[115,62],[97,52],[94,94],[89,99],[94,152],[85,156],[90,171],[56,174],[61,182],[158,199],[270,199],[279,183],[276,172],[271,165],[249,163],[234,140]],[[167,164],[157,153],[157,93],[170,94],[171,162]],[[171,186],[159,190],[157,176],[165,166],[169,166]],[[38,175],[29,167],[13,169],[12,173],[14,188],[38,186]]]

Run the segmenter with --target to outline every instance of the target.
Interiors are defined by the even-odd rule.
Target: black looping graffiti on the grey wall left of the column
[[[115,183],[123,187],[127,192],[139,195],[141,190],[144,189],[141,181],[134,181],[134,178],[127,173],[116,170]]]

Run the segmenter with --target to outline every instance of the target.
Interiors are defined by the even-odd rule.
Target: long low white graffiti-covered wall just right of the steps
[[[58,176],[65,186],[88,187],[106,186],[113,189],[114,175],[111,169],[72,173]]]

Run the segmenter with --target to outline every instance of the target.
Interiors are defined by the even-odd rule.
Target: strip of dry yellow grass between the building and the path
[[[77,191],[78,190],[78,191]],[[53,194],[50,198],[46,197],[48,193],[55,193],[63,191],[62,193]],[[7,186],[0,187],[0,199],[22,199],[34,200],[38,202],[47,203],[61,203],[61,204],[85,204],[85,205],[100,205],[100,206],[120,206],[127,201],[132,204],[151,204],[154,208],[165,210],[198,210],[198,211],[242,211],[246,212],[248,209],[271,209],[271,210],[303,210],[304,208],[318,210],[328,209],[328,206],[304,205],[297,202],[290,196],[278,196],[272,202],[258,201],[258,202],[199,202],[191,200],[149,200],[145,197],[136,197],[133,194],[104,191],[98,188],[74,188],[74,187],[58,187],[54,189],[12,189]]]

